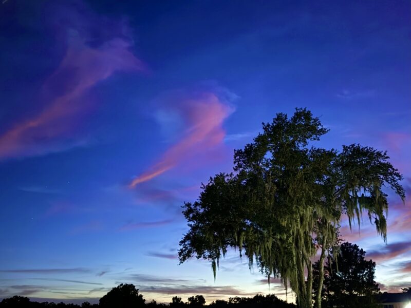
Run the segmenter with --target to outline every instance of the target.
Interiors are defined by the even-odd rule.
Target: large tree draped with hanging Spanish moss
[[[190,230],[180,241],[180,262],[208,259],[215,276],[227,249],[238,247],[250,267],[256,261],[261,272],[289,283],[298,305],[308,308],[311,257],[321,249],[315,301],[321,307],[323,263],[342,214],[350,225],[353,219],[360,224],[367,210],[385,241],[388,201],[382,187],[405,198],[402,176],[385,152],[356,144],[341,152],[311,147],[327,131],[306,109],[263,123],[254,142],[234,152],[234,173],[211,178],[198,201],[184,204]]]

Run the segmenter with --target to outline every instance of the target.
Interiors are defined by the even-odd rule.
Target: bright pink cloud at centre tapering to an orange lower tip
[[[164,172],[187,163],[188,159],[204,153],[219,144],[226,132],[222,125],[233,112],[233,108],[211,91],[178,97],[168,107],[170,112],[179,112],[185,130],[181,139],[167,149],[153,166],[129,183],[130,188],[150,181]],[[197,162],[200,164],[200,162]]]

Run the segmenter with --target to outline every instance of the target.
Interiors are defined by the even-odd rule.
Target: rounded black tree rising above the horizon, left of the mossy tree
[[[120,284],[100,298],[100,307],[137,308],[144,306],[144,302],[134,284]]]

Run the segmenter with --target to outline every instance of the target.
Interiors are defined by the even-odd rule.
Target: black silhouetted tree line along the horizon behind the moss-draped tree
[[[334,248],[335,249],[335,248]],[[314,281],[319,275],[320,261],[314,263]],[[380,289],[375,282],[376,263],[366,260],[365,251],[356,244],[342,243],[338,251],[330,254],[324,266],[324,283],[322,291],[323,307],[379,307]],[[316,285],[312,296],[316,297]],[[411,288],[403,288],[404,293],[411,294]],[[195,308],[206,305],[202,295],[191,296],[186,302],[179,296],[174,296],[169,304],[146,302],[138,288],[133,284],[120,284],[104,295],[99,304],[84,302],[82,305],[65,303],[31,302],[27,297],[13,296],[0,302],[0,308],[6,307],[104,307],[104,308],[138,308],[138,307],[174,307]],[[208,307],[266,307],[295,308],[296,305],[277,298],[274,294],[254,297],[230,297],[228,300],[216,300]]]

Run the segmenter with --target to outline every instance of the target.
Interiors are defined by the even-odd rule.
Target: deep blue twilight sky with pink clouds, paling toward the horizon
[[[178,265],[184,201],[232,168],[277,112],[307,107],[319,146],[387,150],[404,175],[388,241],[342,235],[411,285],[408,1],[24,1],[0,4],[0,298],[96,302],[274,293],[230,252]]]

